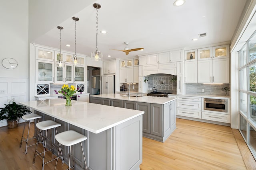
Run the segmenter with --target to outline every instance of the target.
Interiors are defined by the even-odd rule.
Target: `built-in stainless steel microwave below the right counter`
[[[228,100],[204,98],[204,110],[228,112]]]

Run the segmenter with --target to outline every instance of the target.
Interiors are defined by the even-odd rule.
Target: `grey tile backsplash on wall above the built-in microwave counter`
[[[186,84],[186,94],[226,96],[226,92],[222,90],[224,87],[230,87],[230,84]]]

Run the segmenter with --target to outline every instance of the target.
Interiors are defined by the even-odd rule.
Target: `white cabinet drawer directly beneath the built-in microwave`
[[[202,119],[230,123],[230,115],[202,111]]]

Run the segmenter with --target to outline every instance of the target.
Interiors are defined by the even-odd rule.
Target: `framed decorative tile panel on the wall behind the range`
[[[157,90],[172,90],[172,76],[154,76],[153,80]]]

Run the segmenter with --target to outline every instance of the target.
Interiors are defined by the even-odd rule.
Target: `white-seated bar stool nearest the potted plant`
[[[21,139],[20,139],[20,147],[21,147],[21,145],[22,145],[22,142],[26,141],[25,154],[27,154],[28,147],[31,147],[31,146],[33,146],[33,145],[36,145],[36,143],[34,143],[34,144],[28,146],[28,141],[29,141],[30,139],[37,138],[37,137],[28,138],[28,136],[29,136],[29,130],[30,130],[30,123],[31,123],[31,121],[32,121],[33,119],[35,119],[35,123],[36,123],[36,119],[37,119],[37,121],[39,122],[39,118],[42,118],[42,116],[37,115],[37,114],[34,114],[34,113],[32,113],[32,114],[27,114],[27,115],[23,115],[23,116],[22,116],[22,119],[25,120],[25,123],[24,123],[24,129],[23,129],[22,137],[21,137]],[[29,123],[28,123],[28,135],[27,135],[27,139],[25,139],[25,138],[23,137],[23,135],[24,135],[24,131],[25,131],[25,127],[26,127],[27,121],[29,122]],[[24,139],[24,140],[22,140],[22,139]],[[44,143],[43,143],[43,145],[44,145]]]

